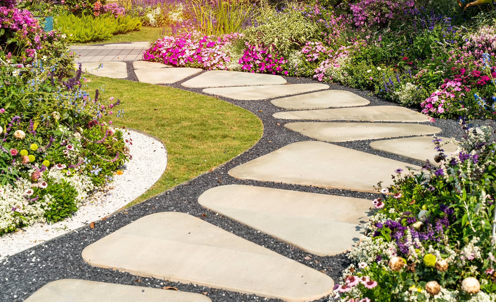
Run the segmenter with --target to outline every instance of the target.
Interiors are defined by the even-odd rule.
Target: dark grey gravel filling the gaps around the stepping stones
[[[134,75],[132,63],[127,62],[129,80],[137,80]],[[193,76],[192,76],[193,77]],[[290,83],[310,83],[315,82],[309,78],[286,77]],[[187,78],[183,81],[186,81]],[[182,81],[182,82],[183,82]],[[185,88],[179,83],[170,84],[169,86],[177,87],[189,91],[202,93],[201,89]],[[373,105],[393,105],[397,104],[387,102],[375,96],[369,95],[367,91],[361,91],[337,84],[330,84],[330,89],[342,89],[354,92],[371,101],[369,106]],[[224,98],[222,98],[224,99]],[[303,192],[313,192],[320,194],[332,194],[339,196],[349,196],[357,198],[373,199],[377,195],[372,193],[356,192],[349,190],[324,189],[313,186],[290,185],[273,182],[260,182],[253,180],[239,180],[228,175],[229,169],[251,159],[267,154],[276,149],[282,148],[288,144],[300,141],[312,141],[306,136],[284,128],[284,124],[291,120],[276,120],[272,117],[275,112],[285,111],[273,106],[269,100],[261,101],[239,101],[225,99],[235,105],[248,109],[263,122],[263,137],[248,151],[217,167],[211,172],[206,172],[193,178],[186,183],[180,184],[170,190],[167,190],[156,197],[152,197],[131,208],[108,217],[104,221],[95,223],[94,228],[89,226],[81,227],[75,231],[69,232],[50,241],[27,249],[15,254],[7,259],[0,261],[0,301],[24,301],[48,282],[64,279],[75,278],[93,281],[103,281],[109,283],[130,284],[135,286],[160,288],[163,286],[173,286],[181,291],[204,293],[212,299],[213,302],[243,302],[243,301],[276,301],[275,299],[261,298],[255,295],[243,295],[235,292],[212,289],[203,286],[191,284],[180,284],[166,282],[155,278],[143,278],[112,271],[110,269],[95,268],[86,264],[81,258],[81,251],[107,234],[124,227],[143,216],[157,212],[185,212],[192,216],[198,217],[210,224],[228,230],[242,238],[246,238],[256,244],[269,248],[281,255],[299,261],[311,268],[322,271],[334,280],[339,280],[341,272],[349,265],[349,260],[345,254],[339,254],[330,257],[320,257],[311,255],[310,260],[304,258],[310,253],[301,250],[298,247],[281,242],[263,232],[244,226],[225,216],[216,215],[215,212],[201,207],[196,201],[204,191],[220,185],[227,184],[245,184],[262,186],[269,188],[279,188]],[[452,120],[437,120],[434,125],[442,129],[439,134],[444,137],[459,136],[461,131],[460,125]],[[389,154],[382,151],[375,151],[369,147],[371,141],[358,141],[336,143],[347,148],[377,154],[391,159],[396,159],[412,164],[422,164],[415,160],[407,159],[399,155]],[[329,154],[332,156],[332,154]],[[392,171],[391,171],[392,172]],[[392,174],[392,173],[391,173]],[[327,301],[324,297],[319,301]]]

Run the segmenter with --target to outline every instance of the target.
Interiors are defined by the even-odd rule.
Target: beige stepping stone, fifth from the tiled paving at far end
[[[353,107],[370,104],[370,101],[346,90],[325,90],[304,95],[288,96],[270,101],[285,109],[322,109],[329,107]]]

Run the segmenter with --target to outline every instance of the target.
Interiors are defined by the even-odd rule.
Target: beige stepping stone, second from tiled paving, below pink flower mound
[[[137,69],[134,74],[138,77],[140,82],[150,84],[170,84],[180,81],[188,76],[200,73],[202,70],[199,68],[151,68],[151,69]]]

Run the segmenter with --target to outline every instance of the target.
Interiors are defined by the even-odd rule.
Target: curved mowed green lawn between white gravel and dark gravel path
[[[90,93],[104,88],[100,100],[111,96],[121,99],[114,112],[124,109],[124,117],[112,116],[114,125],[147,132],[167,147],[168,163],[162,177],[127,206],[228,161],[253,146],[263,134],[255,115],[215,97],[122,79],[86,78],[91,79],[86,83]]]

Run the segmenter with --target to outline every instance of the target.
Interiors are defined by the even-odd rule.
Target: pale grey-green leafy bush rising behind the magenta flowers
[[[293,49],[301,48],[306,41],[315,38],[318,32],[316,23],[294,9],[263,14],[257,21],[261,24],[244,31],[245,41],[250,45],[263,45],[283,56]]]

